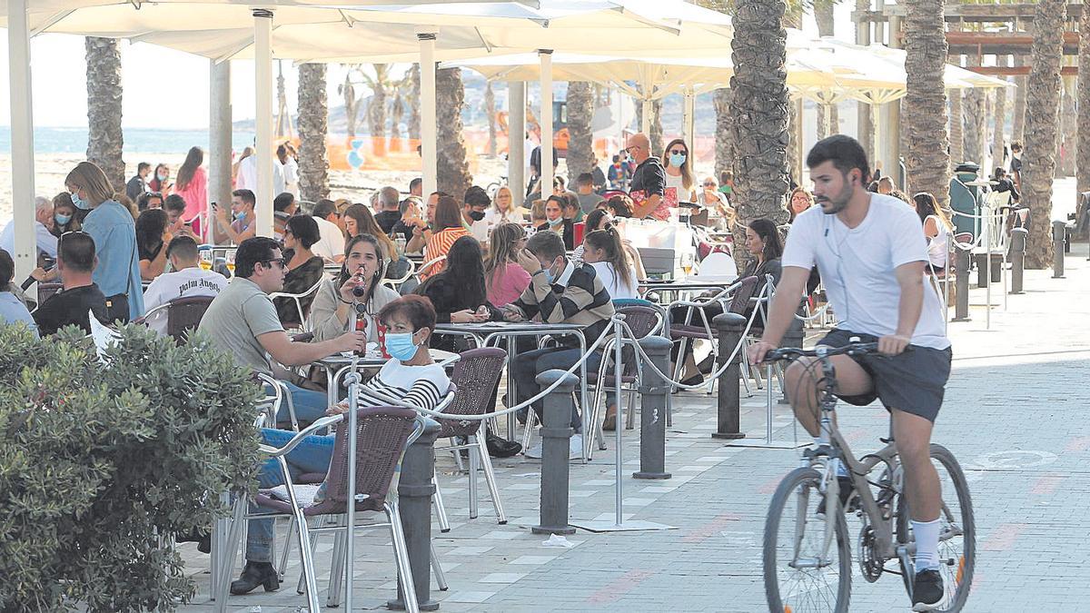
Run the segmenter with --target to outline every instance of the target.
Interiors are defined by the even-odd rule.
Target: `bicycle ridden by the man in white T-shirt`
[[[780,481],[765,520],[763,566],[770,611],[848,610],[852,568],[848,524],[840,508],[837,478],[841,461],[855,485],[855,494],[847,501],[847,512],[855,512],[862,521],[857,537],[861,576],[873,584],[885,573],[900,575],[911,597],[916,543],[908,503],[901,493],[904,474],[892,424],[889,437],[880,438],[885,447],[857,460],[833,420],[837,402],[836,372],[829,358],[876,352],[876,342],[851,342],[841,348],[784,348],[770,351],[765,357],[770,362],[818,358],[808,368],[820,364],[825,383],[819,392],[820,443],[816,448],[803,452],[802,465]],[[947,598],[946,608],[940,611],[960,611],[969,596],[976,566],[972,503],[965,473],[954,455],[932,443],[931,460],[943,484],[938,557]],[[872,481],[870,474],[879,468],[881,472]],[[947,494],[950,488],[955,496]],[[892,561],[897,561],[899,570],[887,566]]]

